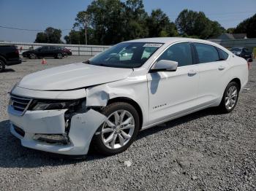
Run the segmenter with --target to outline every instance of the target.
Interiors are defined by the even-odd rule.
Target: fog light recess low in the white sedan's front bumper
[[[37,141],[43,141],[50,144],[68,144],[67,135],[54,135],[54,134],[36,134],[34,139]]]

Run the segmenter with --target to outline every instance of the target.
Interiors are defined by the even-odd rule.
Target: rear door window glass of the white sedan
[[[199,63],[211,63],[219,61],[219,53],[214,46],[208,44],[194,43],[197,50]]]

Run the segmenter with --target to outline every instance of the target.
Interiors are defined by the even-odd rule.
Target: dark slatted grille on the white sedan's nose
[[[26,109],[28,109],[31,101],[31,98],[24,98],[18,95],[11,95],[10,97],[10,105],[13,107],[13,109],[20,112],[21,114],[26,112]]]

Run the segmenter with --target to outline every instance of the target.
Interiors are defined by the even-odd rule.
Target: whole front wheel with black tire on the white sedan
[[[95,133],[93,139],[94,147],[103,155],[116,155],[120,152],[124,152],[124,150],[135,141],[138,135],[140,129],[138,112],[130,104],[116,102],[102,109],[102,114],[108,117],[108,119],[103,122]],[[118,114],[119,118],[116,117],[116,114]],[[121,117],[122,114],[124,117]],[[121,120],[121,118],[123,118],[123,120]],[[118,123],[116,123],[116,121],[118,121]],[[129,123],[127,123],[128,121]],[[125,122],[126,125],[121,125],[122,122]],[[113,139],[111,139],[111,137]]]

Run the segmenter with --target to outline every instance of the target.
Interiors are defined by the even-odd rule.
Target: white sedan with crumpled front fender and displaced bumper
[[[208,107],[232,112],[247,81],[247,62],[213,42],[121,42],[24,77],[10,93],[10,130],[32,149],[86,155],[94,145],[113,155],[159,123]]]

